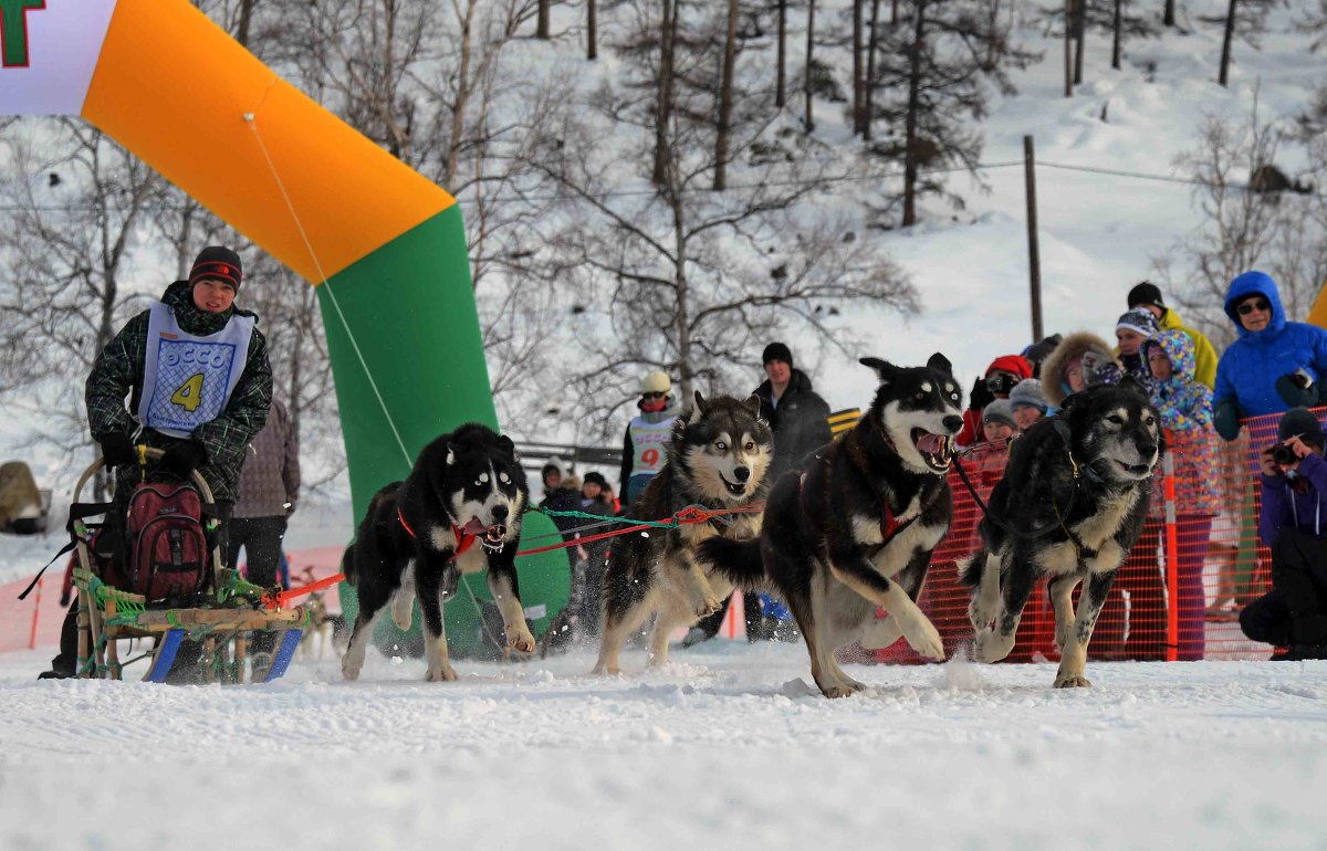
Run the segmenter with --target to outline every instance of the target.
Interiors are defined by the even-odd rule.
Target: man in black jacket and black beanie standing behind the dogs
[[[766,473],[771,486],[779,476],[796,469],[804,457],[833,440],[829,404],[816,395],[807,374],[792,366],[792,353],[783,343],[770,343],[760,354],[766,380],[755,388],[760,416],[774,431],[774,461]]]

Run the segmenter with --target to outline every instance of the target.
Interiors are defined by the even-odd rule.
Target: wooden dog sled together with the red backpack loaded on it
[[[138,447],[139,464],[161,457]],[[121,516],[111,502],[80,502],[101,469],[97,459],[74,486],[69,533],[78,591],[78,676],[122,679],[149,659],[145,681],[272,681],[285,673],[300,643],[303,607],[264,607],[280,589],[245,582],[223,566],[212,492],[195,471],[192,484],[145,481]],[[98,522],[94,518],[101,517]],[[248,655],[247,635],[277,634],[271,655]],[[155,639],[150,652],[121,660],[122,639]],[[184,659],[188,656],[188,659]],[[184,671],[183,668],[196,669]],[[171,671],[175,676],[171,676]]]

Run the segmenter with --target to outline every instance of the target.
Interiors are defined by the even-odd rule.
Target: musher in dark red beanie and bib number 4
[[[102,349],[88,375],[88,424],[115,469],[114,505],[121,517],[139,471],[137,443],[162,449],[149,464],[151,479],[187,481],[196,469],[212,489],[220,550],[227,551],[231,508],[248,444],[272,407],[272,369],[257,315],[235,306],[243,269],[228,248],[204,248],[187,281],[175,281],[130,319]],[[171,371],[175,347],[208,346],[215,357],[194,359],[188,372]],[[129,399],[126,408],[125,400]],[[60,655],[42,677],[74,675],[77,614],[69,610]],[[186,642],[175,671],[196,665],[200,646]]]

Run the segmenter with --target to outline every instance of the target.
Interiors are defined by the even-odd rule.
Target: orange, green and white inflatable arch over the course
[[[81,115],[317,288],[356,517],[433,437],[496,427],[447,192],[187,0],[0,0],[0,115]],[[527,518],[527,538],[552,532]],[[536,635],[567,602],[567,559],[548,555],[518,562]],[[472,644],[471,607],[447,615]]]

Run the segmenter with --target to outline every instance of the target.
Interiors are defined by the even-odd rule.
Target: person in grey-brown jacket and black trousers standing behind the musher
[[[300,498],[300,439],[280,399],[272,398],[267,423],[248,451],[240,471],[240,496],[231,512],[226,563],[239,565],[243,547],[248,581],[272,587],[281,566],[285,524]],[[255,653],[271,653],[275,639],[272,632],[255,632],[249,647]],[[260,664],[265,660],[255,657],[255,665]],[[261,677],[255,673],[253,679]]]

